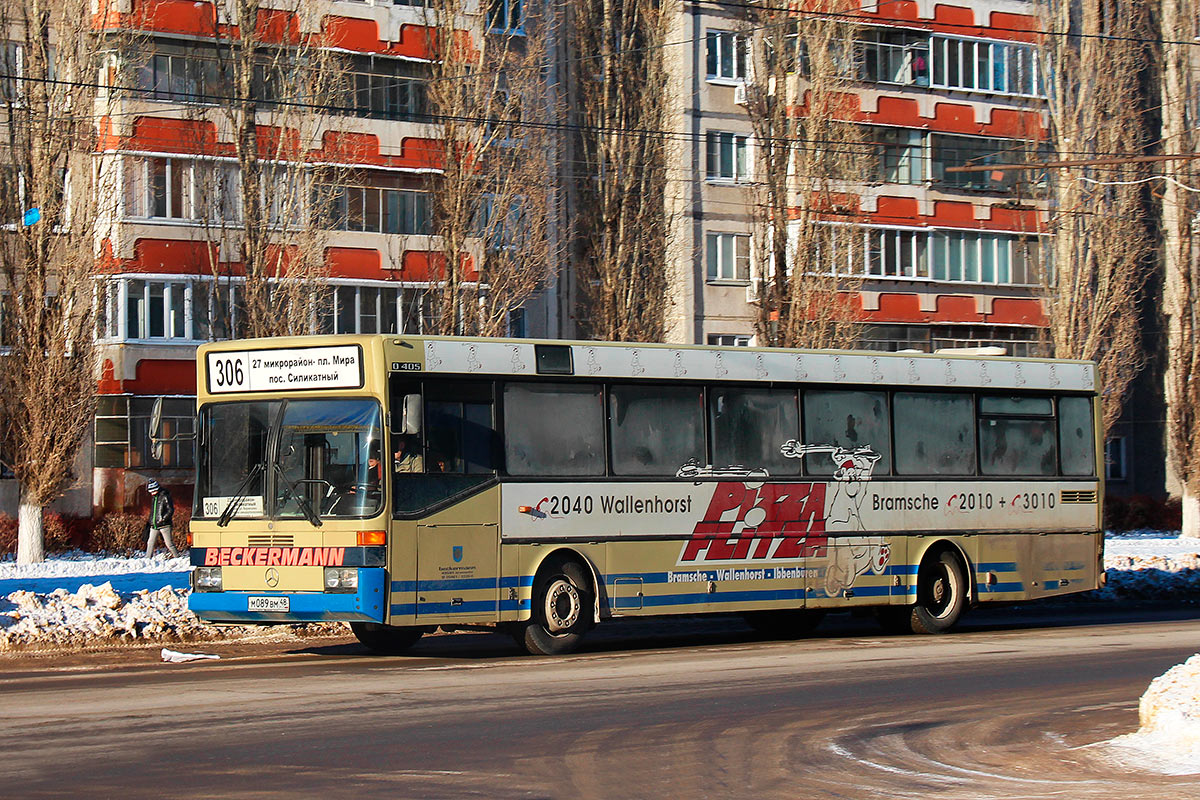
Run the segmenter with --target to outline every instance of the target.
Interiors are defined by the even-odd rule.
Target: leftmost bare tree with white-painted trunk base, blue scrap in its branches
[[[70,482],[92,420],[91,276],[115,196],[95,163],[94,114],[116,46],[92,29],[94,6],[0,6],[0,453],[19,485],[22,564],[43,559],[43,509]]]

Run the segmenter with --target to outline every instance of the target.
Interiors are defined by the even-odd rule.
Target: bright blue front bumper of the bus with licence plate
[[[386,612],[386,571],[359,570],[354,593],[332,591],[192,591],[187,607],[206,622],[287,625],[295,622],[382,622]],[[250,610],[282,606],[287,610]]]

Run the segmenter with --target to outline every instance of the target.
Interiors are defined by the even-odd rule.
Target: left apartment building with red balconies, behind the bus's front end
[[[470,0],[456,26],[476,40],[518,32],[509,28],[520,25],[520,6],[509,5]],[[215,88],[211,31],[232,20],[215,19],[211,2],[191,0],[130,0],[126,11],[145,36],[134,58],[109,70],[132,91],[115,103],[107,98],[112,114],[101,120],[98,156],[120,186],[118,224],[96,284],[102,367],[86,452],[91,505],[102,510],[140,503],[150,477],[182,491],[191,485],[190,443],[168,445],[161,458],[151,451],[151,408],[164,397],[168,431],[191,429],[196,347],[236,335],[240,312],[238,264],[227,263],[235,257],[221,253],[215,266],[205,251],[214,219],[241,222],[229,191],[234,133],[218,114],[204,113],[223,91]],[[337,162],[342,184],[329,193],[337,207],[324,242],[332,302],[313,329],[420,332],[439,248],[427,180],[438,170],[438,126],[427,116],[430,11],[421,0],[344,0],[323,2],[311,17],[348,71],[341,107],[311,134],[314,148],[328,148],[312,160]],[[354,146],[331,145],[346,140]],[[226,180],[214,180],[222,173]],[[224,188],[205,194],[204,186]],[[550,296],[510,313],[509,332],[557,336]]]

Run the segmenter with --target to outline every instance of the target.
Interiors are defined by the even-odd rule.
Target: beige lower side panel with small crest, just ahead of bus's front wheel
[[[499,536],[491,524],[416,528],[420,622],[493,621],[499,616]]]

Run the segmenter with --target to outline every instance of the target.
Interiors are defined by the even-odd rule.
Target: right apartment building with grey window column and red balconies
[[[743,84],[761,47],[739,4],[685,4],[672,41],[680,125],[690,142],[689,204],[677,254],[673,336],[713,344],[755,341],[752,219],[745,182],[754,136]],[[947,172],[1013,163],[1039,138],[1042,73],[1031,4],[864,4],[854,94],[875,174],[852,188],[868,326],[863,347],[884,350],[1000,345],[1036,350],[1038,176]],[[680,273],[683,275],[683,273]]]

